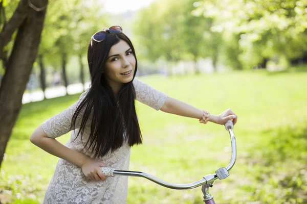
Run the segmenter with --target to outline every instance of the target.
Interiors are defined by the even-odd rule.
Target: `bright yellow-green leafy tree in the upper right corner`
[[[213,32],[239,36],[238,47],[242,52],[238,59],[245,68],[250,68],[264,66],[276,55],[288,59],[305,55],[306,6],[306,0],[203,0],[198,2],[195,12],[214,19]]]

